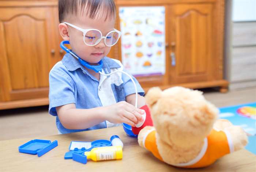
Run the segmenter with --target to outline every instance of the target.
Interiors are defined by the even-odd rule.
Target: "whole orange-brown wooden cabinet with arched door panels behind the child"
[[[164,6],[166,73],[138,77],[147,91],[174,85],[220,86],[223,80],[224,0],[115,0],[118,7]],[[0,0],[0,109],[48,104],[48,75],[61,60],[57,0]],[[120,41],[109,53],[121,60]]]

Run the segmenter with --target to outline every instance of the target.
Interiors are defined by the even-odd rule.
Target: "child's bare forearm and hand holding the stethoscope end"
[[[56,111],[61,124],[67,129],[86,129],[106,120],[135,126],[144,113],[125,101],[91,109],[76,109],[75,104],[71,103],[56,107]]]

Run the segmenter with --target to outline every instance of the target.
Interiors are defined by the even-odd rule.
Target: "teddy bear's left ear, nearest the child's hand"
[[[146,98],[146,103],[149,106],[153,106],[159,98],[162,96],[162,90],[159,87],[153,87],[148,90],[145,98]]]

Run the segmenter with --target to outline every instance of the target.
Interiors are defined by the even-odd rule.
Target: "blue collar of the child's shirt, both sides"
[[[84,70],[83,65],[75,58],[73,57],[70,53],[67,53],[64,55],[63,59],[61,60],[61,62],[64,64],[65,67],[67,67],[67,69],[69,71],[75,71],[79,68],[81,68],[82,70]],[[110,72],[110,69],[112,68],[119,68],[121,67],[117,62],[115,62],[114,60],[112,60],[111,58],[108,57],[104,57],[102,59],[103,62],[103,70],[108,70]]]

